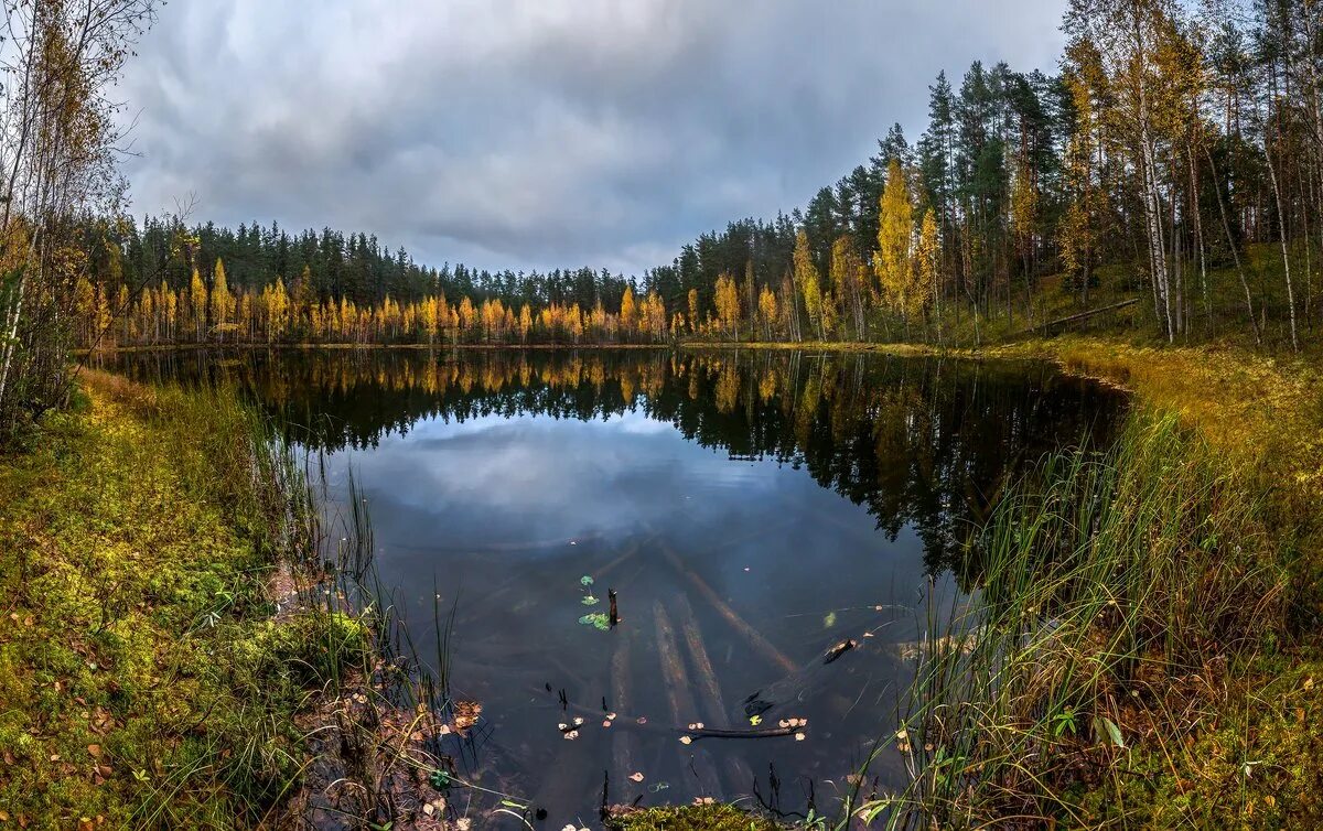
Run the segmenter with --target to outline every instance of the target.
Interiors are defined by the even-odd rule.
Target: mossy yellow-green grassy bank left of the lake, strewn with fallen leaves
[[[295,713],[363,633],[273,621],[277,564],[308,540],[251,410],[82,386],[0,458],[0,827],[251,826],[303,765]]]

